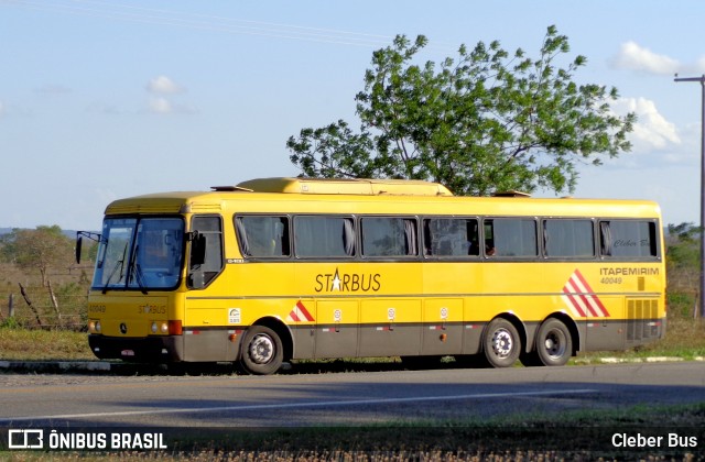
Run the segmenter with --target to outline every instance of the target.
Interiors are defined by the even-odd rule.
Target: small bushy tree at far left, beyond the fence
[[[2,237],[3,258],[23,270],[39,270],[42,286],[47,284],[48,268],[68,265],[72,254],[73,241],[58,226],[14,229]]]

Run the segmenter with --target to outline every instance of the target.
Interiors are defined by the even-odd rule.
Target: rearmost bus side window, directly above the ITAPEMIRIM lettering
[[[659,234],[653,221],[600,221],[599,235],[601,256],[653,260],[659,255]]]

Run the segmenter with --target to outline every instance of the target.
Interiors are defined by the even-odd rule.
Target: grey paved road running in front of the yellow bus
[[[705,363],[257,376],[0,374],[0,427],[306,426],[705,403]]]

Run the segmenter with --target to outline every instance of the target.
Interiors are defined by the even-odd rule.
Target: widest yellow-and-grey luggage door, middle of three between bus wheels
[[[421,353],[421,300],[366,299],[360,304],[360,356]]]

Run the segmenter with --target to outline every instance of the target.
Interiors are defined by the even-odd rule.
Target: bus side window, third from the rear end
[[[487,256],[538,256],[536,222],[530,219],[495,218],[484,221]]]

